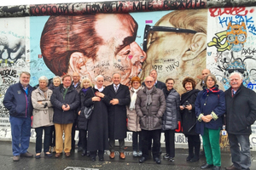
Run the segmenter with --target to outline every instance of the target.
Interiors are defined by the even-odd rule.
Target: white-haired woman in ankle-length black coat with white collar
[[[95,81],[95,87],[89,89],[85,95],[82,111],[84,111],[84,106],[94,105],[94,110],[88,120],[87,150],[90,151],[91,161],[96,161],[97,152],[99,161],[104,161],[104,150],[108,149],[107,104],[110,99],[104,94],[104,77],[99,75]]]

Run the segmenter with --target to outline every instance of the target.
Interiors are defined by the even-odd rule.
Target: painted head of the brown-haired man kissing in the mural
[[[137,27],[130,14],[50,16],[40,42],[44,62],[58,76],[78,72],[94,82],[102,75],[105,86],[118,72],[121,83],[128,85],[146,59],[135,42]]]

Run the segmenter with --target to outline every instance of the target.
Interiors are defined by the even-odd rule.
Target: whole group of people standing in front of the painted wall
[[[73,76],[79,80],[77,73]],[[73,132],[78,127],[82,156],[90,155],[91,161],[96,161],[96,156],[99,161],[104,161],[104,150],[108,149],[109,157],[113,159],[116,139],[119,140],[119,158],[125,159],[127,129],[132,132],[133,156],[141,156],[140,163],[148,159],[152,150],[154,161],[160,164],[161,132],[165,133],[166,141],[164,159],[174,161],[175,130],[181,122],[183,133],[188,138],[187,161],[199,160],[201,134],[207,158],[207,163],[201,168],[220,169],[218,141],[225,124],[234,163],[226,169],[249,169],[251,165],[249,135],[256,120],[256,94],[242,85],[240,73],[230,75],[231,87],[224,92],[216,77],[205,69],[202,82],[197,85],[192,77],[183,80],[186,92],[182,95],[173,88],[174,79],[167,78],[166,83],[157,81],[155,70],[150,71],[143,83],[139,77],[132,77],[130,89],[120,83],[119,73],[113,74],[113,84],[106,88],[101,75],[96,77],[95,86],[88,78],[77,84],[78,81],[72,82],[69,75],[62,77],[62,83],[61,77],[54,77],[53,85],[49,86],[51,89],[47,87],[48,79],[40,77],[39,86],[34,91],[29,79],[28,72],[21,72],[20,82],[10,86],[3,99],[10,114],[14,161],[19,161],[20,156],[32,157],[27,152],[31,121],[37,133],[36,158],[41,156],[43,130],[45,156],[52,156],[49,146],[53,132],[55,157],[60,157],[62,150],[65,156],[70,156]],[[90,119],[86,119],[84,108],[91,105],[94,105],[94,110]],[[32,120],[30,116],[33,116]]]

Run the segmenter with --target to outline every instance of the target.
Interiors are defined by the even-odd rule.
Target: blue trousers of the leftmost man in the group
[[[9,116],[12,133],[13,155],[26,153],[31,135],[31,118]]]

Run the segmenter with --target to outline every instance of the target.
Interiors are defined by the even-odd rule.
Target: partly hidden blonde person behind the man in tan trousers
[[[61,84],[61,77],[55,76],[52,78],[52,83],[49,84],[49,89],[54,90]],[[49,137],[49,151],[55,152],[55,126],[51,126]]]

